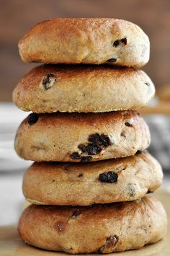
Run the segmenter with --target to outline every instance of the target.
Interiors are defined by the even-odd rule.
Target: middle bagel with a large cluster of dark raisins
[[[17,154],[36,162],[89,162],[134,155],[150,144],[138,112],[31,114],[19,126]]]

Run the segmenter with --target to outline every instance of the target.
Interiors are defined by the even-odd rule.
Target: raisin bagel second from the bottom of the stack
[[[24,173],[31,203],[90,206],[142,198],[162,182],[161,166],[148,153],[89,164],[35,162]]]

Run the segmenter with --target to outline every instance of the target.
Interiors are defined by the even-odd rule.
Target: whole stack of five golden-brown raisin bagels
[[[121,19],[50,19],[19,41],[22,61],[44,63],[13,93],[17,107],[32,111],[15,138],[17,154],[35,161],[23,179],[32,205],[18,226],[27,244],[109,253],[164,237],[164,208],[146,195],[163,174],[135,111],[155,93],[138,69],[149,50],[143,30]]]

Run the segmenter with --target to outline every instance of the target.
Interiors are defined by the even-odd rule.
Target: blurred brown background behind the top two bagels
[[[17,81],[35,64],[19,58],[17,43],[35,23],[53,17],[116,17],[138,24],[151,40],[151,60],[143,69],[156,87],[170,84],[169,0],[1,0],[0,101],[12,100]]]

